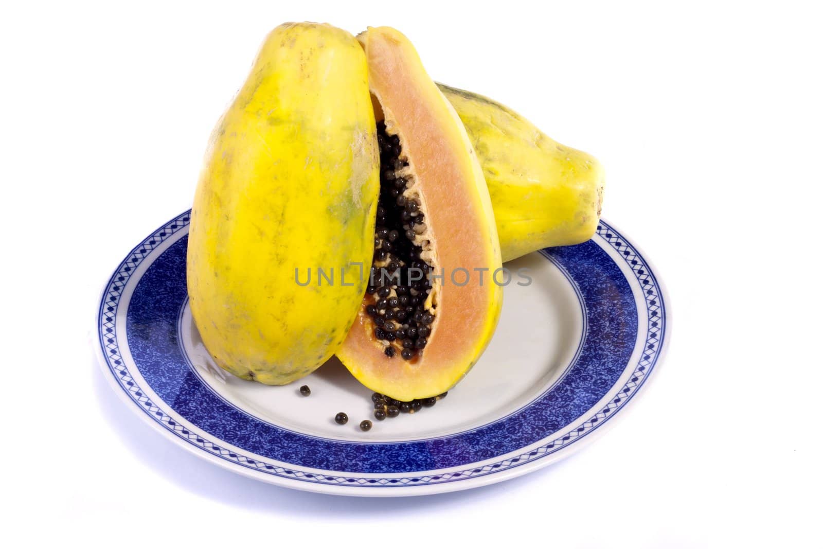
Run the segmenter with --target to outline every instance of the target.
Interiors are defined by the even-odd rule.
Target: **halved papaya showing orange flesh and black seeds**
[[[369,67],[380,196],[369,285],[337,356],[399,401],[444,393],[477,362],[500,317],[500,244],[463,123],[407,38],[358,35]]]

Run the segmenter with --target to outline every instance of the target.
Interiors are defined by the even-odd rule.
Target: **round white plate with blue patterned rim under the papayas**
[[[602,432],[635,400],[668,339],[665,292],[606,222],[584,244],[507,267],[513,280],[490,346],[435,407],[376,421],[371,391],[332,359],[299,383],[227,374],[188,309],[189,212],[128,253],[100,299],[101,365],[133,411],[202,458],[265,482],[346,495],[421,495],[544,467]],[[308,384],[311,396],[298,387]],[[349,422],[333,421],[346,412]],[[363,432],[360,421],[374,427]]]

